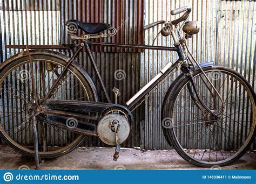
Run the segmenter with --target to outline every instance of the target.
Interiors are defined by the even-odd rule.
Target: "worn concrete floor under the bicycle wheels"
[[[45,160],[41,169],[210,169],[189,164],[174,150],[142,151],[122,148],[113,161],[114,148],[79,147],[67,155]],[[0,146],[0,169],[35,169],[35,162]],[[256,169],[256,152],[246,153],[235,164],[212,169]]]

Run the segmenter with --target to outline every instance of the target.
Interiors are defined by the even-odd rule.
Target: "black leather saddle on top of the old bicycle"
[[[109,24],[104,23],[84,23],[80,22],[75,19],[68,20],[65,25],[68,26],[70,24],[76,24],[78,29],[83,30],[85,33],[88,34],[95,34],[101,31],[105,31],[108,27],[110,27]]]

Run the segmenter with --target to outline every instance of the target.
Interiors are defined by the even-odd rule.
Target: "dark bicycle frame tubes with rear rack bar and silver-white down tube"
[[[114,44],[114,43],[97,43],[97,42],[90,42],[90,41],[84,41],[81,44],[71,44],[71,45],[6,45],[6,48],[29,48],[29,49],[75,49],[77,48],[77,51],[73,54],[72,58],[68,61],[68,65],[64,68],[64,71],[66,71],[66,68],[70,66],[72,61],[74,61],[78,55],[78,53],[82,50],[83,47],[86,48],[86,52],[89,55],[89,59],[91,61],[92,67],[94,72],[96,73],[97,80],[100,83],[100,87],[103,90],[103,94],[107,100],[108,103],[110,102],[109,94],[106,92],[106,88],[104,86],[102,76],[99,73],[98,67],[96,65],[96,61],[93,58],[90,46],[104,46],[104,47],[122,47],[122,48],[134,48],[134,49],[153,49],[153,50],[161,50],[161,51],[174,51],[178,53],[179,59],[171,63],[169,62],[163,69],[161,69],[160,73],[154,77],[149,83],[146,84],[141,90],[138,91],[136,95],[134,95],[129,101],[126,102],[127,108],[131,109],[134,107],[135,104],[137,104],[149,91],[154,88],[161,80],[164,79],[164,77],[169,74],[173,69],[177,68],[179,63],[184,63],[182,66],[185,68],[186,63],[184,62],[185,58],[183,56],[183,53],[181,52],[180,45],[177,45],[175,47],[165,47],[165,46],[151,46],[151,45],[133,45],[133,44]],[[52,91],[57,87],[58,82],[60,79],[65,75],[65,73],[60,74],[57,81],[55,82],[56,85],[51,88],[48,95],[44,97],[41,104],[44,104],[45,101],[49,98],[49,95],[52,93]]]

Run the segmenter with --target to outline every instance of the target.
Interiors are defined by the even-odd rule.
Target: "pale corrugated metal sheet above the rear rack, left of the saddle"
[[[60,44],[60,11],[58,1],[2,1],[1,62],[22,49],[6,49],[7,44]],[[54,22],[54,24],[52,24]]]

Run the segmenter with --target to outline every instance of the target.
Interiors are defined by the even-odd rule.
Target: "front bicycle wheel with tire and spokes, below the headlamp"
[[[254,140],[255,94],[250,83],[231,68],[212,66],[204,72],[223,98],[224,114],[217,119],[201,110],[198,100],[194,101],[196,95],[188,90],[190,77],[181,77],[165,98],[164,135],[179,155],[194,165],[230,165]],[[204,74],[198,70],[193,77],[203,102],[218,114],[221,102]]]

